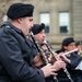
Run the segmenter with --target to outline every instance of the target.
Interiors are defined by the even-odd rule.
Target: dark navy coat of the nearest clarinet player
[[[5,23],[0,27],[0,82],[45,82],[31,62],[37,51],[23,33]]]

